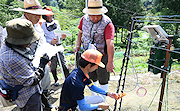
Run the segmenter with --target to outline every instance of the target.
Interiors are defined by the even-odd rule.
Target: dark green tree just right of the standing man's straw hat
[[[103,0],[108,8],[107,15],[112,19],[114,25],[129,27],[133,14],[143,15],[143,4],[141,0]]]

